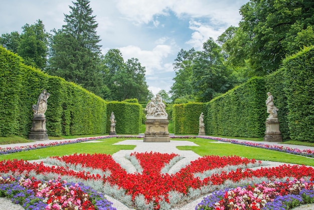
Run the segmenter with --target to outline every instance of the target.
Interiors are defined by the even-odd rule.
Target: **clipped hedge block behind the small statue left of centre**
[[[114,113],[117,134],[139,134],[142,124],[142,106],[139,103],[110,101],[107,103],[107,131],[110,131],[110,116]]]

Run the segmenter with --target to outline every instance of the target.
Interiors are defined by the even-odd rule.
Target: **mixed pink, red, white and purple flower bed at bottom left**
[[[78,183],[61,183],[61,179],[42,181],[33,178],[0,176],[0,196],[11,198],[25,209],[116,209],[88,186]]]

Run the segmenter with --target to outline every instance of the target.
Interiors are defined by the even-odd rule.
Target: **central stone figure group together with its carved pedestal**
[[[170,142],[168,114],[163,98],[156,94],[147,103],[144,142]]]

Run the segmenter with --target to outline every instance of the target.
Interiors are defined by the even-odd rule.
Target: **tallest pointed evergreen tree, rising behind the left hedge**
[[[66,25],[61,30],[54,30],[48,72],[105,97],[107,87],[100,70],[98,24],[89,3],[88,0],[73,2],[70,15],[65,15]]]

